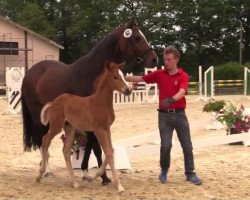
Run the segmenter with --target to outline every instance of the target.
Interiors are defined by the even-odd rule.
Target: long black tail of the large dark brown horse
[[[30,151],[31,147],[33,146],[32,144],[33,120],[23,96],[21,96],[21,104],[22,104],[22,116],[23,116],[23,147],[24,151]]]

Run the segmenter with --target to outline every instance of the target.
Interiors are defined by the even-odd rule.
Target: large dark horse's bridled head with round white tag
[[[117,31],[118,45],[127,66],[155,67],[158,57],[138,26],[131,20]]]

